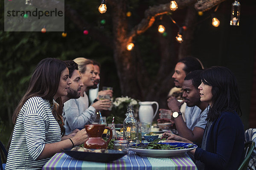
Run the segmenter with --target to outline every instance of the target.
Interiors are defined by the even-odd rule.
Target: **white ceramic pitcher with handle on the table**
[[[152,105],[157,105],[157,110],[154,112]],[[139,102],[139,119],[140,122],[152,122],[154,117],[157,115],[158,103],[157,102]]]

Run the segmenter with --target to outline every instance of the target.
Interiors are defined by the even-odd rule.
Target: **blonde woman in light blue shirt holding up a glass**
[[[105,100],[99,100],[89,106],[89,99],[85,91],[87,87],[93,86],[95,79],[93,61],[83,57],[74,59],[78,64],[78,70],[81,74],[81,80],[84,86],[81,89],[81,96],[78,99],[70,99],[64,104],[63,117],[65,119],[66,135],[76,128],[84,128],[84,125],[90,124],[96,119],[96,111],[108,110],[111,103]]]

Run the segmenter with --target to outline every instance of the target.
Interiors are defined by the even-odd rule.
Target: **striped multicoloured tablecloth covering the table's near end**
[[[116,161],[104,163],[74,159],[65,153],[56,153],[43,170],[197,170],[185,153],[179,157],[155,158],[129,151]]]

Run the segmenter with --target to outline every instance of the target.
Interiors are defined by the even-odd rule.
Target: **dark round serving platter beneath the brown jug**
[[[108,153],[96,153],[96,152],[82,152],[71,150],[72,148],[62,149],[64,153],[75,159],[84,161],[96,161],[96,162],[110,162],[122,158],[127,152],[119,150],[108,150]],[[92,149],[93,150],[93,149]]]

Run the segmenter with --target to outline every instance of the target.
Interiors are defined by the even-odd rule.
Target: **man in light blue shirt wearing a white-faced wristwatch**
[[[200,101],[200,91],[198,86],[201,84],[201,70],[192,71],[184,79],[182,90],[184,102],[186,102],[186,123],[184,122],[180,105],[175,97],[170,97],[168,107],[172,110],[172,121],[179,136],[190,141],[201,144],[204,135],[207,118],[207,103]]]

